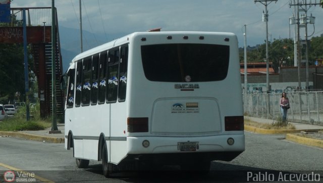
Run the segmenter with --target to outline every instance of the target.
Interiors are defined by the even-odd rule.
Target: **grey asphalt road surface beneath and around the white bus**
[[[24,170],[27,175],[34,173],[36,181],[55,182],[247,182],[248,175],[249,181],[255,181],[252,178],[257,178],[258,174],[268,173],[264,177],[278,178],[281,174],[314,172],[323,181],[323,149],[287,142],[284,135],[249,132],[245,135],[245,152],[231,162],[212,162],[207,176],[195,176],[194,172],[180,172],[177,166],[165,166],[158,172],[120,172],[109,179],[101,174],[101,164],[97,161],[90,161],[88,169],[78,169],[73,151],[65,150],[64,144],[0,137],[0,174],[3,176],[10,169],[16,174]]]

